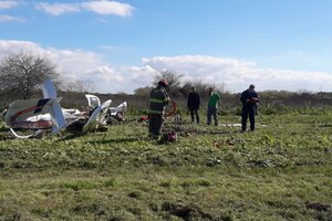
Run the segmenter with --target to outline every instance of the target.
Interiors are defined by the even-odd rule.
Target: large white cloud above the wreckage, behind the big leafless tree
[[[117,73],[101,55],[82,50],[59,50],[42,48],[28,41],[0,41],[0,61],[11,53],[29,52],[49,59],[66,82],[76,80],[93,83],[93,87],[102,93],[116,93],[124,76]],[[127,91],[126,91],[127,92]]]

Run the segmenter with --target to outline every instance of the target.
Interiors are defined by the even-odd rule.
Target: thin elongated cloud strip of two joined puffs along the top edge
[[[63,13],[80,12],[82,10],[92,11],[97,14],[114,14],[120,17],[129,17],[134,8],[127,3],[117,1],[100,0],[86,1],[76,3],[48,3],[40,2],[35,4],[35,9],[44,11],[52,15],[60,15]],[[100,19],[101,21],[105,21]]]

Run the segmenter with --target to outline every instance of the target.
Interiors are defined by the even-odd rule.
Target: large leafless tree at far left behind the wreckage
[[[54,64],[32,53],[10,54],[0,63],[0,88],[18,98],[30,98],[45,77],[56,81],[58,76]]]

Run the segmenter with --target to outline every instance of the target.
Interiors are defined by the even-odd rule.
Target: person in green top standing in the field
[[[217,92],[214,92],[212,87],[208,88],[209,99],[207,106],[207,125],[211,124],[211,116],[214,116],[215,125],[218,126],[218,107],[221,107],[220,95]],[[218,106],[217,106],[218,105]]]

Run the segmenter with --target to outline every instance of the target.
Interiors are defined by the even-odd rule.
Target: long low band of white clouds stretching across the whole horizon
[[[225,84],[230,92],[241,92],[256,84],[258,91],[332,91],[332,74],[322,72],[261,69],[253,62],[205,55],[155,56],[143,59],[142,66],[115,69],[101,54],[82,50],[43,48],[28,41],[0,40],[0,60],[21,51],[44,55],[53,62],[65,81],[84,81],[101,93],[126,92],[151,85],[159,71],[184,74],[184,80]]]

